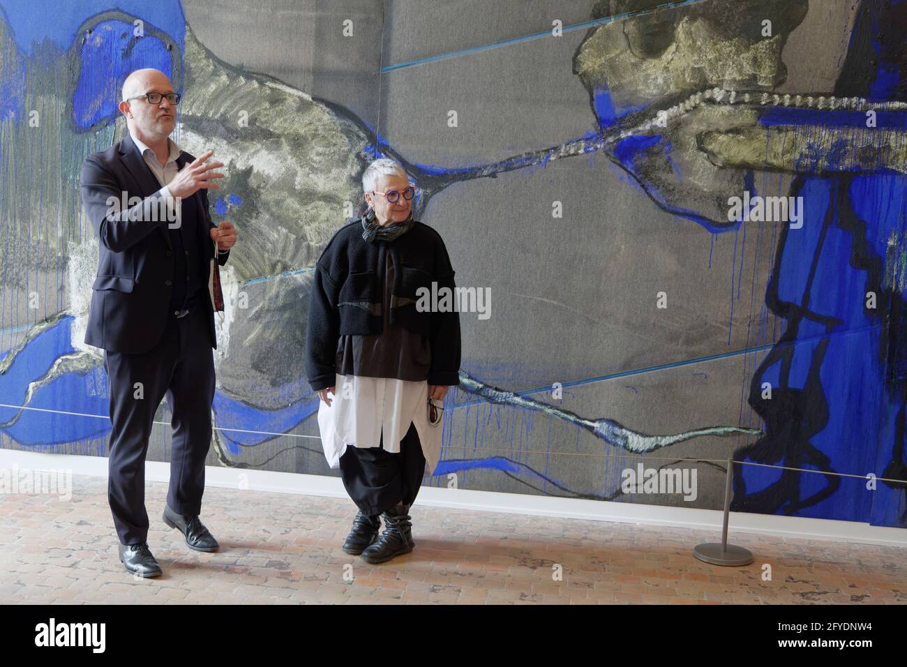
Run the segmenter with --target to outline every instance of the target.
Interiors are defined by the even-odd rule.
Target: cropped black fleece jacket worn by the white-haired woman
[[[341,227],[315,265],[306,331],[309,385],[316,391],[334,386],[340,336],[381,333],[381,289],[388,252],[400,268],[395,272],[388,319],[428,335],[432,348],[428,384],[460,384],[460,313],[420,312],[415,307],[416,290],[424,287],[431,292],[433,282],[436,289],[446,287],[455,294],[454,271],[441,235],[419,221],[392,241],[369,242],[362,231],[360,220]]]

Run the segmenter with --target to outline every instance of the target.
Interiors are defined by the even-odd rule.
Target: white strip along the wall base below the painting
[[[71,470],[73,475],[107,476],[107,458],[105,456],[74,456],[28,452],[20,449],[0,449],[0,467],[11,468],[12,466],[18,466],[20,469]],[[161,461],[146,461],[145,479],[150,482],[169,481],[170,464]],[[205,466],[205,484],[222,488],[242,488],[249,491],[346,497],[346,490],[339,477],[279,473],[249,468]],[[420,505],[472,509],[480,512],[555,516],[564,519],[612,521],[620,524],[670,525],[716,531],[721,530],[722,521],[720,510],[555,498],[549,495],[504,494],[494,491],[469,491],[437,486],[423,486],[417,502]],[[733,542],[734,533],[907,546],[907,530],[903,528],[799,516],[732,512],[729,528],[730,542]],[[720,535],[717,539],[720,539]],[[693,546],[695,544],[690,544],[690,549]]]

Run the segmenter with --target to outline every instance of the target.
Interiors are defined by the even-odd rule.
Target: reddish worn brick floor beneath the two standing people
[[[201,518],[220,551],[200,554],[161,521],[161,483],[146,505],[164,574],[143,580],[120,564],[106,490],[73,476],[69,501],[0,496],[0,603],[907,603],[896,546],[733,533],[756,558],[725,568],[691,553],[710,531],[417,502],[414,552],[370,565],[340,550],[352,501],[214,487]]]

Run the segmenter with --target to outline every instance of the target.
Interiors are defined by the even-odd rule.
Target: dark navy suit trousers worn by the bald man
[[[215,382],[205,299],[207,291],[197,292],[194,307],[181,318],[171,311],[160,342],[147,352],[104,352],[112,423],[108,497],[122,544],[147,539],[145,454],[165,396],[173,427],[167,505],[184,516],[201,512]]]

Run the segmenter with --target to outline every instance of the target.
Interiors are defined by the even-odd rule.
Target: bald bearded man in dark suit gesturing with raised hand
[[[191,549],[217,551],[200,521],[211,442],[214,309],[222,309],[218,267],[236,230],[210,219],[208,190],[221,162],[170,139],[180,95],[157,70],[133,72],[120,111],[129,136],[82,165],[83,207],[98,234],[98,275],[85,342],[104,350],[110,390],[108,499],[120,560],[142,577],[161,574],[148,547],[145,454],[154,413],[171,409],[170,490],[163,521]]]

